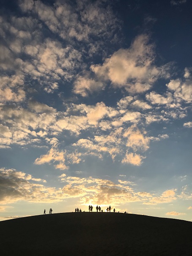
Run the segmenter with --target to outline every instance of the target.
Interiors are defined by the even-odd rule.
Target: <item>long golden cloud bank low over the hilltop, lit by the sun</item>
[[[43,179],[14,169],[0,169],[0,204],[4,210],[6,204],[16,201],[35,203],[54,203],[65,198],[78,198],[79,204],[111,205],[140,201],[143,204],[160,204],[176,200],[176,190],[166,190],[157,196],[145,191],[136,191],[135,183],[119,180],[118,183],[93,177],[74,177],[62,173],[59,177],[63,187],[47,187]],[[43,184],[34,183],[41,182]]]

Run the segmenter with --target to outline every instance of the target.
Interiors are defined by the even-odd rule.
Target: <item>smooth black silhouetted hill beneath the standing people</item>
[[[192,256],[192,222],[123,213],[58,213],[0,222],[2,256]]]

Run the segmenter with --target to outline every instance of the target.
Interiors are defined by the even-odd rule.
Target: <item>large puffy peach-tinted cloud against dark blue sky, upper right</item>
[[[103,65],[92,65],[91,70],[102,80],[110,80],[113,87],[124,88],[132,94],[151,88],[159,77],[167,77],[165,67],[156,67],[154,45],[143,34],[137,36],[129,49],[120,49],[107,58]]]

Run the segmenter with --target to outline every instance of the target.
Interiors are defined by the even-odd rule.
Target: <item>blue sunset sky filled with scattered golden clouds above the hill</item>
[[[0,220],[110,205],[192,221],[191,10],[1,0]]]

